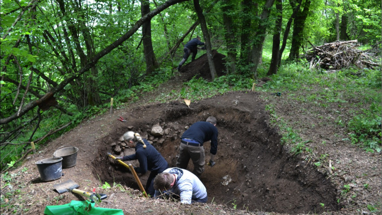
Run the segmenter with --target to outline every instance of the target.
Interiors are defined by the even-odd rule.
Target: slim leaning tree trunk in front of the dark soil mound
[[[199,0],[193,0],[193,5],[195,7],[196,14],[198,15],[198,18],[200,21],[200,27],[203,32],[204,43],[207,49],[207,59],[208,59],[208,64],[210,65],[211,77],[212,77],[212,80],[214,80],[217,77],[217,73],[215,69],[214,59],[212,57],[211,40],[210,40],[210,34],[208,33],[206,19],[204,18],[202,8],[200,7],[200,4],[199,4]]]

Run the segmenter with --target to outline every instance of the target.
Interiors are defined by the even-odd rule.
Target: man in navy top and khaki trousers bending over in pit
[[[205,154],[203,143],[211,140],[210,162],[211,167],[215,165],[214,158],[217,152],[217,129],[216,118],[210,116],[206,122],[199,121],[191,125],[182,137],[179,146],[179,156],[176,161],[176,167],[187,169],[190,158],[192,160],[194,169],[192,173],[200,177],[204,171]]]

